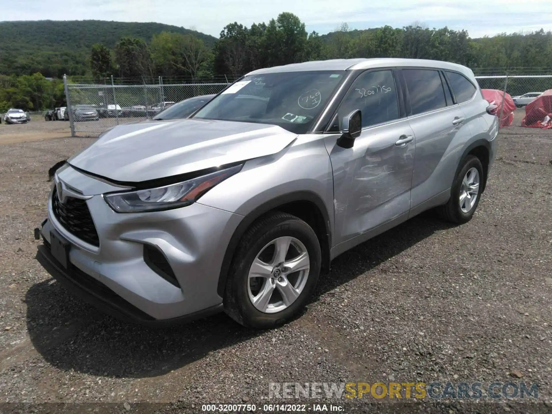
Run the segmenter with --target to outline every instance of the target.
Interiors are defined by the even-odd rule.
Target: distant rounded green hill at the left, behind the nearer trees
[[[192,34],[208,46],[216,40],[214,36],[162,23],[103,20],[0,22],[0,74],[84,75],[94,43],[113,47],[123,36],[150,41],[154,34],[163,30]]]

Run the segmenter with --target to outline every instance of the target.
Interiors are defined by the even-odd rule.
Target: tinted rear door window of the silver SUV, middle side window
[[[428,69],[404,69],[406,88],[410,96],[412,115],[447,106],[439,71]]]

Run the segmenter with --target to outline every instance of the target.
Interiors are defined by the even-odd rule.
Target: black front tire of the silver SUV
[[[277,250],[271,243],[276,240],[285,241],[288,238],[291,242],[289,250],[286,250],[288,256],[285,261],[290,263],[296,253],[301,254],[301,251],[304,251],[308,254],[309,259],[307,270],[286,274],[289,268],[278,266],[278,264],[272,266],[272,262],[277,256]],[[282,325],[298,315],[314,291],[320,275],[322,254],[314,230],[306,222],[293,215],[279,212],[269,213],[260,217],[249,227],[238,246],[226,279],[224,293],[226,314],[243,326],[261,329]],[[257,256],[259,259],[262,258],[263,262],[271,263],[267,267],[272,269],[271,277],[254,277],[250,280],[250,269]],[[303,264],[306,264],[305,261]],[[278,272],[280,269],[281,275]],[[280,277],[277,279],[278,276]],[[270,290],[270,285],[273,286],[272,290]],[[260,298],[261,291],[267,290],[267,286],[268,290],[272,292],[269,300],[273,302],[268,304],[269,300],[267,300],[266,311],[261,311],[258,307],[262,308],[263,305],[254,306],[250,295]],[[285,303],[285,296],[281,293],[289,291],[289,286],[293,286],[294,294],[298,291],[300,293],[294,301],[290,302],[288,299],[288,303]]]

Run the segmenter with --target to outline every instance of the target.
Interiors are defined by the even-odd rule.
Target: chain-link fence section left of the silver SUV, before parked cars
[[[151,119],[181,100],[216,94],[230,82],[119,84],[68,83],[63,78],[72,136],[98,136],[120,124]]]

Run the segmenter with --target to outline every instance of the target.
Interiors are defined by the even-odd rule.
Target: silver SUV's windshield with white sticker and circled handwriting
[[[246,76],[193,118],[272,124],[305,134],[344,75],[344,71],[310,71]]]

